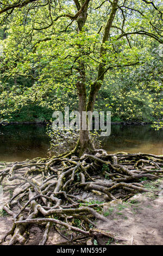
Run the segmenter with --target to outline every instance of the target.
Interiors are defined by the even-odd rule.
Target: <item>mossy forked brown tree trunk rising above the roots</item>
[[[112,26],[112,22],[114,21],[115,14],[117,11],[117,3],[118,0],[114,0],[112,2],[112,9],[111,13],[109,15],[108,22],[106,23],[105,29],[104,29],[104,35],[103,40],[101,44],[100,49],[100,56],[104,57],[104,54],[106,53],[106,49],[103,46],[103,44],[108,41],[109,39],[109,33]],[[82,1],[82,4],[84,4],[84,1]],[[85,5],[85,8],[83,9],[82,13],[77,18],[78,23],[78,32],[81,32],[87,18],[87,8],[88,8],[89,1],[87,1],[87,4]],[[82,49],[81,45],[78,45],[80,50]],[[105,71],[105,61],[103,60],[103,64],[99,64],[98,66],[98,75],[96,81],[92,84],[89,100],[87,102],[87,96],[86,96],[86,85],[85,85],[85,65],[84,62],[79,63],[78,68],[78,82],[76,83],[77,92],[78,92],[78,100],[79,100],[79,113],[80,113],[80,135],[79,135],[79,141],[77,143],[75,151],[79,156],[83,155],[84,153],[92,153],[95,151],[95,148],[93,146],[93,143],[91,141],[91,136],[89,130],[83,130],[82,127],[82,112],[83,111],[91,111],[93,112],[93,108],[96,101],[96,96],[99,91],[99,89],[102,86],[102,82],[104,80],[104,71]]]

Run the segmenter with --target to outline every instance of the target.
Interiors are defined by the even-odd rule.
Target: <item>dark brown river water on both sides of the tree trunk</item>
[[[163,131],[150,125],[112,125],[111,135],[103,139],[108,153],[151,153],[163,155]],[[0,161],[22,161],[46,157],[49,138],[43,125],[8,125],[0,127]]]

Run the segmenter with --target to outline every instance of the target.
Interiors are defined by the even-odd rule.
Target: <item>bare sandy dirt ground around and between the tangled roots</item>
[[[108,223],[97,222],[97,228],[114,233],[126,241],[109,238],[98,240],[98,245],[163,245],[163,180],[147,182],[152,191],[136,194],[126,202],[121,199],[105,203],[103,214]],[[12,227],[11,217],[5,215],[2,206],[7,202],[0,191],[0,240]],[[6,193],[5,193],[6,194]],[[3,198],[3,200],[2,200]],[[43,235],[41,227],[32,227],[29,245],[38,245]],[[10,236],[7,237],[7,245]],[[62,245],[66,242],[58,233],[51,230],[47,245]],[[70,244],[70,243],[69,243]]]

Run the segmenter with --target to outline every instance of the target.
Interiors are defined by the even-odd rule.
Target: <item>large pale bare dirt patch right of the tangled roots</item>
[[[106,203],[104,207],[108,223],[98,223],[98,228],[127,239],[118,244],[163,245],[163,181],[147,185],[152,193],[136,194],[127,202]],[[110,239],[108,244],[115,242]]]

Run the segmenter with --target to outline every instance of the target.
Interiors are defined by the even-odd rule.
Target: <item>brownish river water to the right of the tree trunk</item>
[[[150,125],[112,125],[111,135],[103,139],[108,153],[126,151],[129,153],[163,154],[163,131],[155,131]]]

